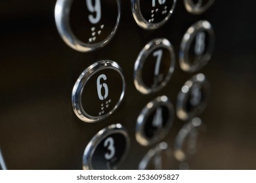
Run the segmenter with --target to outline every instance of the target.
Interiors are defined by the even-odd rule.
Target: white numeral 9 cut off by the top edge
[[[91,13],[96,13],[95,16],[93,14],[89,14],[88,18],[91,24],[97,24],[101,18],[101,5],[100,0],[94,0],[95,4],[93,5],[93,0],[86,0],[86,5],[88,10]]]

